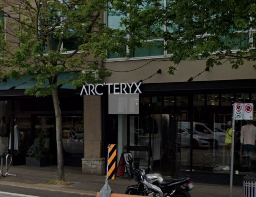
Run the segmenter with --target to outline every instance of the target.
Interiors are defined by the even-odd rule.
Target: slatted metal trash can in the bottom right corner
[[[243,177],[243,196],[256,197],[256,176]]]

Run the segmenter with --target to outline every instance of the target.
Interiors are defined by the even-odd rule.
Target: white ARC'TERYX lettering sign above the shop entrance
[[[86,95],[102,95],[103,94],[103,87],[108,86],[108,93],[114,94],[128,94],[128,93],[141,93],[139,87],[141,82],[138,84],[133,82],[132,84],[129,83],[103,83],[103,84],[87,84],[83,85],[81,90],[80,96],[84,93]]]

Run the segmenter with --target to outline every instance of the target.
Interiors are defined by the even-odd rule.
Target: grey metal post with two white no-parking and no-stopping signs
[[[235,120],[253,120],[253,103],[233,104],[229,197],[232,197],[233,189]]]

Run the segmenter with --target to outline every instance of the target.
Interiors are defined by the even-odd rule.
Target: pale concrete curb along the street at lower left
[[[46,191],[58,191],[58,192],[80,194],[80,195],[87,195],[87,196],[96,196],[96,193],[97,193],[96,191],[85,191],[85,190],[80,190],[80,189],[54,188],[54,187],[48,187],[45,184],[40,184],[40,185],[37,186],[36,184],[17,183],[17,182],[10,182],[10,181],[0,181],[0,185],[20,187],[20,188],[29,188],[29,189],[39,189],[39,190],[46,190]],[[24,195],[24,197],[26,197],[26,195]]]

